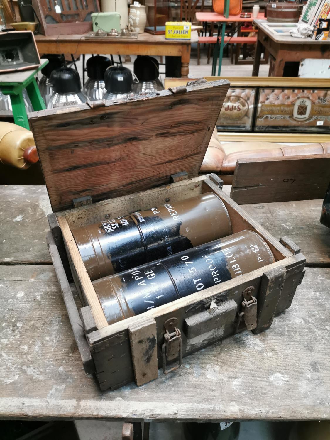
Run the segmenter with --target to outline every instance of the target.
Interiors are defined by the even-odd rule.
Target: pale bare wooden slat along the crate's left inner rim
[[[95,323],[98,329],[108,326],[106,317],[104,316],[99,298],[97,297],[92,281],[89,278],[86,268],[84,266],[81,255],[77,249],[73,235],[70,231],[70,227],[66,222],[65,217],[58,217],[59,226],[62,231],[64,242],[66,243],[66,249],[70,254],[75,271],[79,274],[79,281],[81,288],[84,292],[84,297],[91,308],[92,315],[95,319]]]

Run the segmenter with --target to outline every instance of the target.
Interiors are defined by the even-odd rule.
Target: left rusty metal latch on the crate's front
[[[182,364],[182,339],[180,330],[176,328],[177,323],[176,318],[170,318],[164,324],[166,332],[164,334],[164,344],[161,346],[164,374],[177,370]],[[166,358],[167,360],[179,358],[178,364],[166,370]]]

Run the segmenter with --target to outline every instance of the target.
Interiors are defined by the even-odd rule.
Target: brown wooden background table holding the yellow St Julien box
[[[46,37],[36,35],[40,54],[112,54],[112,55],[164,55],[181,57],[181,77],[189,73],[191,43],[198,42],[197,31],[191,32],[191,40],[166,40],[165,35],[151,35],[144,32],[137,40],[124,38],[88,39],[82,35],[58,35]]]

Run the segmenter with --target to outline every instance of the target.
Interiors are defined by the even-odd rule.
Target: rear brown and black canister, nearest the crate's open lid
[[[224,203],[213,193],[72,230],[92,280],[231,234]]]

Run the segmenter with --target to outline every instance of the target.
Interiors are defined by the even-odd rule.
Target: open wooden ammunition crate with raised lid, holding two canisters
[[[54,212],[48,217],[49,250],[85,371],[96,374],[102,390],[134,380],[142,385],[158,377],[159,367],[165,371],[178,367],[184,356],[244,330],[244,321],[238,326],[238,315],[243,291],[248,288],[257,298],[257,327],[253,331],[267,329],[276,313],[290,307],[302,280],[305,258],[293,242],[288,238],[278,242],[265,231],[223,193],[217,176],[197,176],[228,85],[223,81],[197,83],[110,106],[101,103],[90,108],[84,104],[30,115]],[[122,121],[123,112],[130,115],[130,125]],[[106,124],[111,128],[109,133]],[[167,130],[165,124],[169,125]],[[151,144],[150,138],[154,141]],[[128,156],[121,153],[115,161],[112,154],[120,155],[118,146],[127,148]],[[92,156],[86,156],[87,149],[93,150]],[[137,162],[143,155],[148,166],[139,169]],[[174,175],[169,174],[171,169]],[[187,174],[197,177],[187,179]],[[275,263],[108,325],[71,229],[209,191],[226,205],[233,233],[244,229],[259,233]],[[70,289],[71,273],[84,305],[79,312]],[[209,314],[206,324],[205,313]],[[181,331],[181,338],[169,360],[163,346],[165,326],[171,322]]]

